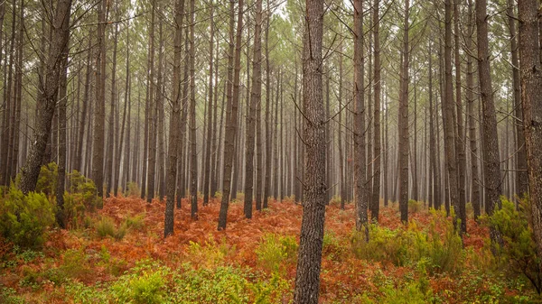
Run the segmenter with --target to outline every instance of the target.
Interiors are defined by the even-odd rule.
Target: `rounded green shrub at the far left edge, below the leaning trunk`
[[[0,198],[0,233],[22,247],[40,246],[45,230],[55,223],[54,208],[42,193],[23,192],[12,186]]]

